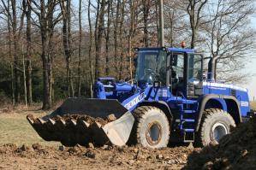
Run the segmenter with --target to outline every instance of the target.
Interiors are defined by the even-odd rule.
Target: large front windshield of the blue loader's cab
[[[140,51],[137,58],[136,79],[152,84],[160,81],[166,84],[166,57],[167,53],[162,50]]]

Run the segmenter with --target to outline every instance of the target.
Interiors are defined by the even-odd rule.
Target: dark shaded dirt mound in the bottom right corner
[[[220,144],[188,157],[185,169],[256,169],[256,117],[238,126]]]

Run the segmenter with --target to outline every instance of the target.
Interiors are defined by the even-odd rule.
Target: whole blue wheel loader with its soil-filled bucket
[[[68,98],[57,110],[27,120],[46,141],[65,146],[141,144],[158,149],[171,142],[218,143],[247,120],[248,91],[214,79],[215,61],[204,66],[195,50],[136,49],[135,76],[99,78],[94,98]]]

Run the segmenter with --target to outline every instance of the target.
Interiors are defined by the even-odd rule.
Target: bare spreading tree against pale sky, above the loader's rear
[[[215,3],[214,3],[215,2]],[[232,72],[242,67],[244,58],[253,50],[253,30],[247,26],[249,16],[253,14],[253,0],[218,0],[208,6],[208,22],[205,26],[206,43],[213,62],[211,72],[217,79],[217,62],[219,75],[229,79],[235,76]],[[225,67],[223,67],[225,66]],[[231,73],[231,74],[230,74]],[[224,75],[226,74],[226,76]],[[227,76],[229,74],[229,76]],[[239,75],[239,74],[237,74]]]

